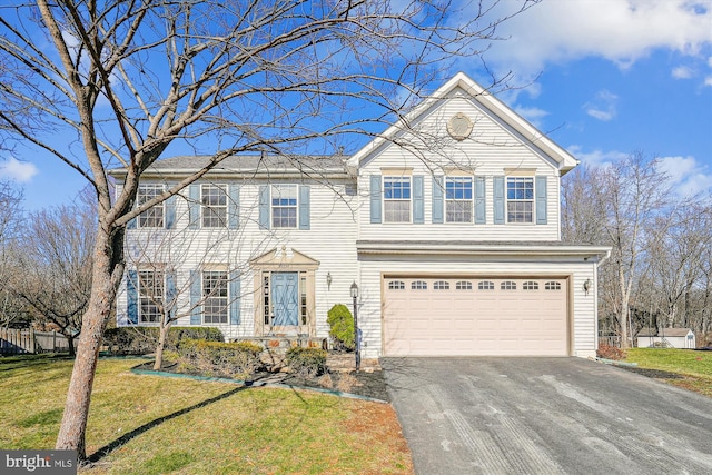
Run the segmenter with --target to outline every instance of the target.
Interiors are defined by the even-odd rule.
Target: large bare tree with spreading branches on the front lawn
[[[0,144],[56,156],[91,184],[97,201],[92,288],[57,448],[86,456],[97,357],[131,218],[227,156],[334,150],[346,132],[373,133],[355,111],[378,109],[369,115],[378,126],[397,118],[438,68],[457,55],[481,57],[497,24],[535,2],[6,2]],[[171,145],[211,159],[136,207],[141,174]],[[128,174],[112,200],[115,165]]]

